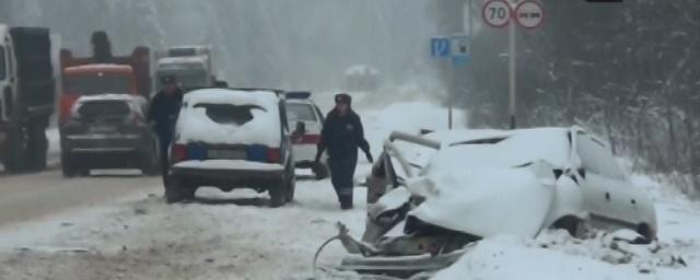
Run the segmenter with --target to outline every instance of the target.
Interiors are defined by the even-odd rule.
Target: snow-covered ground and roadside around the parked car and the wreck
[[[318,96],[324,109],[330,97]],[[375,154],[392,129],[446,127],[436,105],[364,106],[370,100],[357,96],[355,107],[369,107],[360,114]],[[466,118],[458,113],[456,120]],[[357,178],[369,168],[362,161]],[[656,202],[658,244],[631,246],[603,233],[576,241],[559,231],[536,240],[498,236],[466,248],[434,279],[698,279],[700,203],[648,176],[633,179]],[[313,255],[337,234],[337,221],[355,236],[364,229],[365,189],[355,188],[354,210],[340,211],[327,179],[300,179],[295,202],[279,209],[266,207],[266,194],[213,189],[199,190],[194,203],[168,206],[158,187],[0,230],[0,279],[308,279]],[[342,256],[335,243],[320,262],[337,265]]]

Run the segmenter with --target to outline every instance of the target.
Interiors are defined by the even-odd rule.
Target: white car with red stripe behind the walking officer
[[[315,163],[324,115],[311,100],[311,92],[289,92],[285,95],[289,126],[294,128],[292,150],[295,166],[311,168],[317,179],[324,179],[329,174],[327,156],[322,158],[320,164]]]

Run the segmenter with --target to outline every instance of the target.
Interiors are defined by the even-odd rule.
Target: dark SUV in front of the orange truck
[[[148,102],[139,95],[98,94],[78,98],[61,124],[61,166],[66,177],[91,170],[160,171],[159,142],[145,122]]]

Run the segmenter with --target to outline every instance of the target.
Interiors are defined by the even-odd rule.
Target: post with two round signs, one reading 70
[[[515,21],[521,27],[534,30],[541,25],[545,19],[545,12],[536,1],[532,0],[490,0],[483,4],[481,11],[483,21],[491,27],[509,26],[509,115],[511,129],[516,128],[515,109],[516,109],[516,26]]]

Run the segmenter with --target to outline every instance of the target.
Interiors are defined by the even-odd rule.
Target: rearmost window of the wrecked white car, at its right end
[[[580,135],[576,138],[576,152],[581,156],[586,173],[595,173],[610,178],[623,178],[625,174],[617,165],[615,156],[607,147],[591,137]]]

